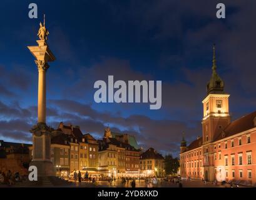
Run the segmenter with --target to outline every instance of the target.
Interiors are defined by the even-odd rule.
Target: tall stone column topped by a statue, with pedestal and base
[[[36,58],[38,67],[38,123],[30,130],[33,133],[33,159],[30,163],[38,168],[38,176],[54,176],[51,163],[51,129],[46,125],[46,72],[48,62],[55,60],[53,53],[46,43],[49,32],[40,22],[38,31],[38,46],[28,46],[29,51]]]

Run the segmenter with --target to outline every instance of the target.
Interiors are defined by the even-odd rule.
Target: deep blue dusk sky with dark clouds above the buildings
[[[38,5],[29,19],[28,5]],[[136,136],[140,146],[177,156],[182,133],[202,136],[202,100],[217,71],[230,94],[232,120],[256,109],[256,1],[1,1],[0,139],[31,143],[36,124],[38,70],[27,46],[37,45],[46,14],[56,56],[47,72],[47,124],[79,125],[96,139],[106,126]],[[162,107],[96,104],[95,81],[162,81]]]

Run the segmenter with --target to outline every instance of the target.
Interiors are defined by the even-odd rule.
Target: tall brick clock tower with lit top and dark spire
[[[212,77],[207,84],[207,97],[203,99],[203,167],[205,181],[214,181],[214,146],[212,142],[230,124],[229,94],[217,74],[215,45],[213,46]]]

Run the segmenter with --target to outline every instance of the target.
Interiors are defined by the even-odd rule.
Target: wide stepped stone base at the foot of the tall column
[[[36,166],[36,168],[38,168],[38,177],[56,176],[51,161],[31,161],[29,166]]]

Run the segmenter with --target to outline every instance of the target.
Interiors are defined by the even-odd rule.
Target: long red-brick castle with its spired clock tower
[[[212,77],[203,99],[202,137],[180,145],[180,174],[184,178],[227,181],[251,186],[256,183],[256,111],[233,122],[229,94],[217,74],[213,47]]]

